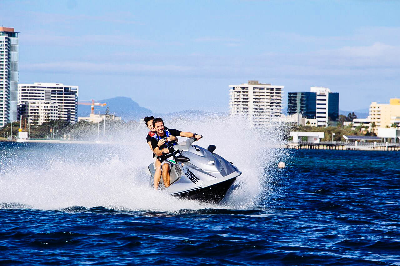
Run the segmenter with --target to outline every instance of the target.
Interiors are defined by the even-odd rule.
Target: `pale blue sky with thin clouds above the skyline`
[[[400,97],[400,1],[0,1],[19,83],[168,113],[228,111],[230,84],[323,86],[340,109]],[[284,103],[286,103],[286,96]]]

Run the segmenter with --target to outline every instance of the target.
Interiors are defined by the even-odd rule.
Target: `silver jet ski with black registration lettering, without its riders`
[[[242,172],[214,153],[215,145],[204,149],[192,145],[194,141],[196,138],[193,137],[167,147],[170,150],[169,160],[174,165],[170,170],[170,186],[165,188],[161,178],[159,189],[182,199],[218,203]],[[150,175],[149,185],[154,187],[154,163],[146,170]]]

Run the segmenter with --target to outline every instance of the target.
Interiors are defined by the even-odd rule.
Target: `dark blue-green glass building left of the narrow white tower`
[[[314,119],[316,117],[317,93],[289,92],[288,115],[301,114],[302,117]]]

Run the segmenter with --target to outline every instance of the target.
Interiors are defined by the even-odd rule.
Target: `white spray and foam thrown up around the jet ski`
[[[18,151],[16,157],[6,155],[15,161],[0,168],[0,202],[18,202],[39,209],[105,206],[176,212],[254,208],[268,196],[264,188],[273,173],[266,171],[266,165],[280,157],[279,150],[272,147],[277,140],[276,129],[255,131],[243,121],[227,117],[202,117],[196,121],[169,118],[164,122],[169,128],[203,135],[198,145],[216,145],[215,152],[242,171],[221,204],[177,199],[148,187],[144,169],[152,158],[144,141],[146,128],[115,132],[111,146],[60,145],[59,149],[44,149],[36,145],[35,149]],[[184,139],[180,137],[180,141]]]

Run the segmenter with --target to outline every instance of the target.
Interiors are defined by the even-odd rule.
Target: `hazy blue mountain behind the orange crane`
[[[138,103],[128,97],[114,97],[104,100],[96,100],[98,103],[107,103],[106,106],[95,106],[95,113],[105,113],[107,107],[110,108],[110,113],[115,113],[117,116],[122,117],[125,121],[139,120],[147,115],[152,115],[152,111],[139,106]],[[90,105],[78,105],[78,116],[88,116],[90,114]]]

